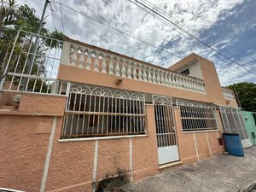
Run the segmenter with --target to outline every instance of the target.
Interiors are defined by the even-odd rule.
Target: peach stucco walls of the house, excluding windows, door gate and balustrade
[[[201,68],[201,80],[206,89],[203,94],[135,79],[122,79],[121,84],[116,84],[114,75],[84,70],[63,62],[57,79],[227,105],[211,61],[192,54],[170,69],[177,73],[174,71],[188,61],[196,62]],[[215,110],[218,129],[185,132],[180,108],[173,107],[179,160],[159,166],[154,104],[146,103],[147,131],[143,135],[61,140],[67,95],[20,93],[20,96],[18,108],[0,109],[0,187],[27,192],[91,192],[95,183],[114,175],[119,169],[127,172],[131,182],[136,182],[174,166],[206,160],[224,152],[224,146],[218,143],[223,132],[218,110]],[[229,105],[237,107],[236,101],[230,101]]]

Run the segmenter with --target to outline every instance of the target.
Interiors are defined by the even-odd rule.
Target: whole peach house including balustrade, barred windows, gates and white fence
[[[17,108],[0,109],[1,187],[92,191],[119,170],[137,181],[222,154],[224,130],[250,145],[233,92],[200,55],[166,69],[70,38],[19,35],[23,51],[10,55],[1,84],[2,105],[20,95]]]

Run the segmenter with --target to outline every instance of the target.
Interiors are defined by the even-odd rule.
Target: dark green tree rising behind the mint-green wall
[[[256,112],[256,84],[241,82],[227,87],[237,92],[242,109]]]

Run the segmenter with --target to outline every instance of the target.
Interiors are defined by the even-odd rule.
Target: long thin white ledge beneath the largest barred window
[[[90,137],[90,138],[70,138],[70,139],[59,139],[60,143],[64,142],[83,142],[83,141],[96,141],[96,140],[109,140],[109,139],[121,139],[121,138],[133,138],[133,137],[148,137],[145,135],[134,135],[134,136],[112,136],[112,137]]]

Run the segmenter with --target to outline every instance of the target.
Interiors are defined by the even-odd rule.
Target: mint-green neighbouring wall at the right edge
[[[241,111],[241,112],[242,112],[242,118],[244,119],[244,122],[246,124],[247,134],[250,137],[251,143],[255,145],[256,138],[253,138],[252,136],[253,132],[254,132],[254,135],[256,136],[256,125],[254,123],[253,112],[250,112],[250,111]]]

